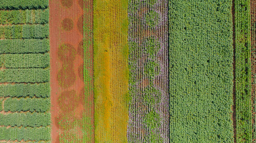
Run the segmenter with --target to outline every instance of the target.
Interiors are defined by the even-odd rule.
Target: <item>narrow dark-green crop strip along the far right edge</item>
[[[235,1],[236,141],[252,142],[250,1]]]

